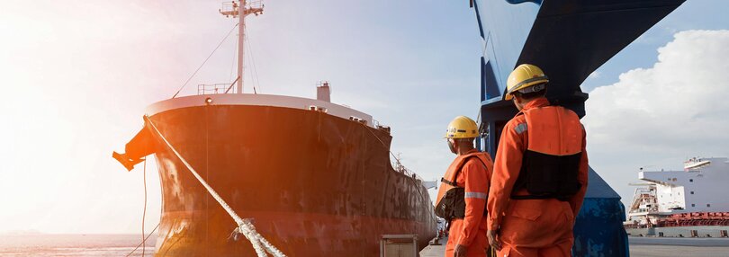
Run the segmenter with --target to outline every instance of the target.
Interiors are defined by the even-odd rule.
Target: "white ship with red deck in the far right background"
[[[626,231],[636,236],[729,237],[729,159],[691,158],[683,171],[643,171]]]

